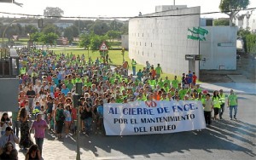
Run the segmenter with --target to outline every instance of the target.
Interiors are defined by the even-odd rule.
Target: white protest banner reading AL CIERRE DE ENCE
[[[205,129],[201,101],[135,101],[104,104],[107,135],[167,134]]]

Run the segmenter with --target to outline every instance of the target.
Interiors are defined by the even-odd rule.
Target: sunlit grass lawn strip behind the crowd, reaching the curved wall
[[[59,48],[53,48],[53,49],[49,49],[49,50],[54,50],[55,54],[60,54],[60,53],[64,53],[64,54],[73,53],[73,54],[76,54],[76,55],[84,54],[85,60],[88,60],[88,50],[67,49],[67,48],[65,50],[64,49],[59,49]],[[118,65],[121,65],[123,63],[123,56],[122,56],[120,50],[109,50],[108,55],[109,55],[110,60],[112,60],[112,65],[113,66],[118,66]],[[90,50],[89,51],[89,56],[91,57],[92,60],[96,60],[97,57],[100,58],[100,53],[99,52],[92,53],[91,50]],[[125,51],[125,60],[128,61],[128,64],[130,66],[129,70],[131,70],[131,59],[129,59],[128,51]],[[143,70],[143,67],[144,67],[144,65],[137,64],[137,71],[139,69]],[[168,74],[168,73],[161,74],[162,78],[164,78],[166,76],[169,77],[169,79],[174,79],[174,75],[172,75],[172,74]],[[177,78],[181,79],[180,76],[177,76]]]

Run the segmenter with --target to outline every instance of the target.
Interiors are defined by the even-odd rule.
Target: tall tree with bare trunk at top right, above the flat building
[[[249,3],[249,0],[221,0],[218,8],[221,12],[230,16],[230,26],[232,26],[232,20],[235,18],[235,15],[241,9],[247,9]]]

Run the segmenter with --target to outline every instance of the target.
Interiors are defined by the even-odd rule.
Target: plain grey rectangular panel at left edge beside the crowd
[[[18,110],[18,78],[0,78],[0,111]]]

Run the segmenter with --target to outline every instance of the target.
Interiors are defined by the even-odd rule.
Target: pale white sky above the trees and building
[[[1,0],[0,0],[1,1]],[[46,7],[58,7],[64,11],[64,16],[75,17],[132,17],[142,14],[154,13],[157,5],[173,5],[173,0],[15,0],[23,3],[19,7],[11,3],[0,3],[0,12],[16,14],[44,14]],[[188,7],[201,6],[201,13],[219,11],[220,0],[176,0],[176,5]],[[256,0],[251,0],[248,8],[256,8]],[[15,15],[0,14],[5,17]],[[16,17],[18,17],[16,15]],[[201,17],[220,18],[226,14],[207,14]]]

